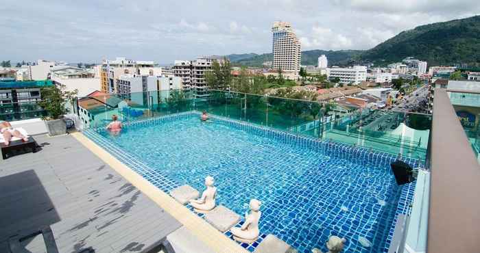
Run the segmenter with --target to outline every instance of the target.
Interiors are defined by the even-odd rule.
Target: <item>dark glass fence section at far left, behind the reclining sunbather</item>
[[[0,120],[28,120],[47,116],[47,112],[38,105],[39,102],[0,103]]]

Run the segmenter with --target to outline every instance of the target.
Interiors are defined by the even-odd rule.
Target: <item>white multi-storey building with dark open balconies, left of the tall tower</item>
[[[222,64],[224,57],[209,56],[198,57],[193,61],[175,61],[172,67],[173,75],[180,77],[182,80],[182,87],[185,90],[192,90],[195,98],[202,98],[208,96],[208,87],[205,80],[205,73],[211,71],[214,61]]]

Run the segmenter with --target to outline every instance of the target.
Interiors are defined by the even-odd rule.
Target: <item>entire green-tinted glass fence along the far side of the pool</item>
[[[198,96],[182,90],[108,94],[80,98],[80,114],[90,127],[104,127],[113,114],[124,122],[182,111],[223,116],[424,160],[431,115],[381,109],[344,109],[335,103],[208,90]]]

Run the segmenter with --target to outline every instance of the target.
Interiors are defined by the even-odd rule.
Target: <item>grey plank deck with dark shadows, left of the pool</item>
[[[0,252],[45,226],[59,252],[147,252],[180,228],[73,137],[34,138],[39,152],[0,160]],[[22,244],[46,252],[41,236]]]

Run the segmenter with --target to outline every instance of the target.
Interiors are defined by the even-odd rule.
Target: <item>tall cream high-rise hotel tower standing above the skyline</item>
[[[300,40],[291,29],[290,23],[275,22],[272,27],[274,62],[272,68],[282,71],[300,71]]]

